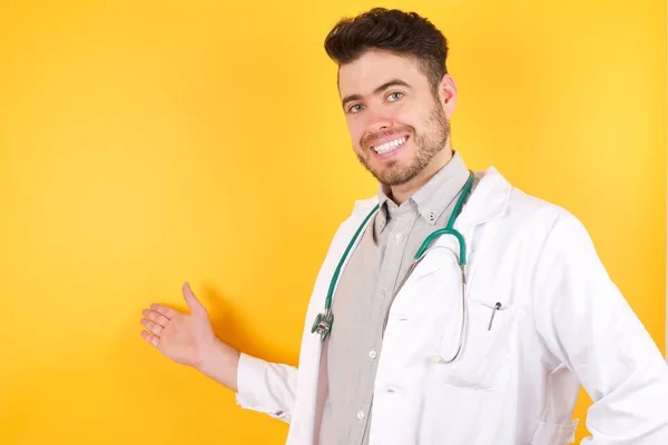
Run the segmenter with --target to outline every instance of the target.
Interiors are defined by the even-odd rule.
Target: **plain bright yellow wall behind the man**
[[[235,346],[296,363],[330,238],[375,191],[322,42],[375,3],[60,3],[0,13],[0,443],[283,443],[139,312],[190,280]],[[664,350],[665,2],[549,3],[384,4],[451,40],[469,165],[578,215]]]

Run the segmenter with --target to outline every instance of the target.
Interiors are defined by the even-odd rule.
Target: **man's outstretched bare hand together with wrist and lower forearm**
[[[153,304],[141,312],[146,317],[140,322],[146,328],[141,337],[174,362],[193,366],[236,390],[239,353],[216,337],[206,308],[187,283],[183,294],[190,314]]]

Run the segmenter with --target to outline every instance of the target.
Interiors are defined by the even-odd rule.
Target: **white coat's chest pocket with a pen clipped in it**
[[[465,299],[463,333],[441,342],[436,363],[443,384],[472,390],[495,390],[505,384],[518,339],[520,307],[499,303]],[[456,358],[448,363],[458,348]]]

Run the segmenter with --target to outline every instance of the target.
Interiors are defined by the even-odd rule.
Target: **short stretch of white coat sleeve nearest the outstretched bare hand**
[[[242,408],[289,423],[296,390],[296,367],[240,354],[236,402]]]

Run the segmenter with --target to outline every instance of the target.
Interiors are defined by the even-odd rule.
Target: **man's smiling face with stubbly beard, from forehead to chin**
[[[370,51],[338,76],[353,148],[380,182],[409,182],[445,148],[450,110],[414,60]]]

